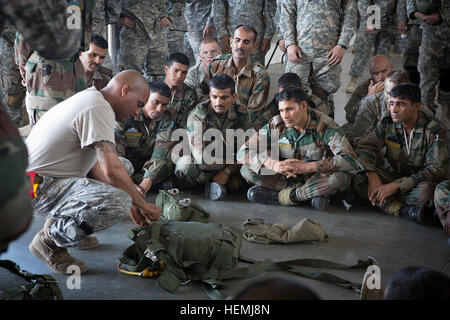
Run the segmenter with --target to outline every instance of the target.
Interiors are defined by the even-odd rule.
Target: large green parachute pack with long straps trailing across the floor
[[[302,271],[294,266],[329,269],[366,269],[374,259],[344,265],[321,259],[274,262],[253,261],[240,254],[242,238],[227,226],[211,223],[160,220],[128,232],[134,241],[119,259],[119,271],[139,277],[158,277],[157,285],[174,293],[181,284],[201,281],[213,299],[223,299],[223,280],[251,278],[267,271],[286,271],[360,292],[361,283],[327,272]],[[249,265],[240,267],[238,261]]]

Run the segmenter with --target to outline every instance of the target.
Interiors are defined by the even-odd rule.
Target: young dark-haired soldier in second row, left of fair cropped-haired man
[[[175,128],[186,128],[187,116],[198,103],[194,89],[184,83],[188,69],[189,58],[180,52],[172,53],[164,67],[164,82],[172,92],[168,109]]]

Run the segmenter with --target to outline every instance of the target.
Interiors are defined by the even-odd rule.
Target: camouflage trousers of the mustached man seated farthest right
[[[385,169],[378,167],[375,169],[375,172],[380,177],[382,184],[388,184],[394,182],[396,179],[401,178],[398,174],[391,173]],[[369,180],[364,173],[357,174],[353,177],[352,187],[361,198],[369,200]],[[398,217],[400,208],[405,204],[425,205],[430,201],[433,201],[435,187],[436,183],[428,181],[421,182],[408,193],[402,195],[395,194],[388,198],[384,205],[377,204],[377,207],[382,209],[386,213]]]

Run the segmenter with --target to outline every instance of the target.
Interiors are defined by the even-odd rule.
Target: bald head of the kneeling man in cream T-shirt
[[[101,93],[113,108],[116,120],[125,121],[144,107],[150,89],[140,72],[124,70],[112,78]]]

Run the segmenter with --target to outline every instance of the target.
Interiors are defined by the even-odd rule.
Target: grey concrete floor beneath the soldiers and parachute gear
[[[269,53],[272,52],[272,49]],[[345,87],[349,81],[348,70],[352,53],[347,51],[343,61],[342,86],[335,94],[335,120],[342,125],[346,122],[344,105],[349,99]],[[268,56],[269,57],[269,56]],[[278,51],[269,66],[271,76],[271,96],[275,92],[276,81],[283,73],[280,64],[281,53]],[[400,66],[400,57],[392,57],[395,67]],[[368,77],[366,67],[364,81]],[[441,228],[425,227],[409,220],[398,219],[369,206],[355,206],[349,211],[339,204],[334,204],[326,212],[313,210],[308,206],[281,207],[260,205],[249,202],[246,192],[233,194],[224,201],[214,202],[203,199],[202,192],[187,192],[211,213],[210,222],[225,224],[240,230],[247,218],[263,218],[268,222],[279,222],[294,225],[305,217],[318,220],[329,235],[329,240],[314,244],[264,245],[243,241],[242,254],[255,260],[266,258],[275,261],[293,258],[322,258],[345,264],[354,264],[367,256],[375,257],[381,267],[381,283],[384,287],[387,279],[396,270],[406,266],[425,266],[450,275],[445,270],[450,261],[450,250],[447,236]],[[154,201],[156,194],[151,194],[149,200]],[[1,259],[11,259],[22,268],[33,273],[49,273],[50,270],[40,260],[28,251],[28,245],[34,235],[42,228],[44,219],[36,217],[31,228],[18,240],[10,244],[9,250]],[[141,279],[117,272],[118,259],[124,249],[131,245],[127,231],[133,227],[131,220],[126,218],[122,223],[114,225],[95,236],[100,246],[88,251],[70,249],[70,253],[84,261],[88,266],[86,274],[81,276],[81,289],[68,289],[67,277],[55,275],[63,291],[65,299],[149,299],[149,300],[198,300],[208,299],[198,283],[181,286],[175,294],[169,294],[159,289],[153,279]],[[364,271],[332,271],[351,281],[360,282]],[[277,273],[265,274],[268,277]],[[319,281],[299,278],[305,285],[312,288],[322,299],[355,300],[359,295],[353,291],[335,287]],[[241,288],[245,281],[232,280],[224,289],[224,295],[232,295]]]

